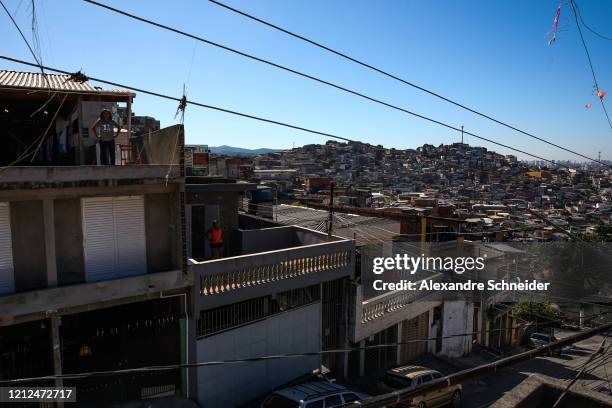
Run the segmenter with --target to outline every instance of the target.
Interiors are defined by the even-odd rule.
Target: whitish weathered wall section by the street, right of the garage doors
[[[445,301],[442,312],[442,336],[453,336],[474,331],[474,307],[464,300]],[[472,336],[453,337],[442,340],[440,354],[447,357],[460,357],[472,349]]]

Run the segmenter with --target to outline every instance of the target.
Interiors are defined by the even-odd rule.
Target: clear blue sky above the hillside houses
[[[31,38],[30,2],[4,0]],[[570,7],[547,46],[557,0],[226,0],[419,85],[581,153],[612,159],[612,131]],[[36,0],[44,62],[135,87],[396,148],[450,143],[448,129],[249,61],[78,0]],[[108,1],[210,40],[271,59],[502,143],[552,159],[569,153],[462,111],[207,1]],[[612,2],[578,0],[587,24],[612,36]],[[32,60],[0,14],[2,54]],[[585,30],[601,89],[612,98],[612,41]],[[193,58],[192,58],[193,57]],[[23,69],[0,61],[2,69]],[[608,101],[610,102],[610,101]],[[585,109],[592,103],[592,109]],[[608,103],[612,113],[612,105]],[[176,103],[138,95],[137,114],[175,123]],[[187,143],[289,148],[326,138],[195,106]],[[509,151],[467,137],[470,144]]]

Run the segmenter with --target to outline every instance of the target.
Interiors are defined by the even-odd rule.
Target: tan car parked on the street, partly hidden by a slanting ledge
[[[391,392],[404,388],[415,388],[429,381],[442,378],[443,375],[436,370],[422,366],[403,366],[388,370],[382,378],[379,390]],[[444,387],[436,391],[430,391],[423,395],[414,397],[409,402],[402,403],[401,407],[436,408],[450,405],[454,408],[461,406],[461,393],[463,389],[460,384]]]

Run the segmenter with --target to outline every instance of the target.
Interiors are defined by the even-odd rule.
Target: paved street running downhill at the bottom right
[[[569,334],[557,332],[555,335],[563,338]],[[560,356],[539,357],[531,361],[517,364],[514,367],[464,384],[463,406],[468,408],[487,407],[503,397],[503,395],[526,379],[530,374],[543,374],[569,382],[582,368],[603,340],[602,336],[576,343],[573,348],[565,350]],[[604,356],[595,358],[585,372],[585,375],[574,384],[576,389],[609,389],[608,374],[612,375],[612,338],[605,344]],[[604,363],[604,364],[602,364]],[[594,368],[594,369],[590,369]],[[611,378],[612,379],[612,378]]]

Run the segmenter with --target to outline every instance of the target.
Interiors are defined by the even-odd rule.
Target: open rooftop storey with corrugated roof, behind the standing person
[[[91,126],[102,108],[117,122],[117,110],[123,109],[128,115],[123,126],[130,135],[134,97],[132,91],[102,89],[69,75],[0,70],[0,165],[99,164]],[[120,163],[121,146],[116,149]]]

